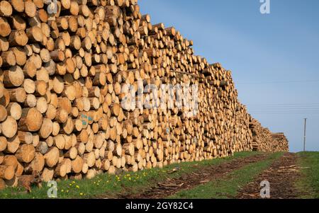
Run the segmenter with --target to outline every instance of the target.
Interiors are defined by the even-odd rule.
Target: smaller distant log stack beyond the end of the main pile
[[[252,119],[250,123],[252,131],[252,147],[254,151],[277,152],[289,151],[289,142],[284,133],[272,133]]]

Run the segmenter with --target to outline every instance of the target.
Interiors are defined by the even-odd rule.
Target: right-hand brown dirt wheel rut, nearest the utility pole
[[[237,198],[258,199],[260,197],[260,183],[268,180],[270,183],[270,197],[272,199],[291,199],[297,198],[298,192],[294,188],[294,183],[300,177],[296,166],[296,154],[284,154],[272,166],[261,173],[252,183],[240,190]]]

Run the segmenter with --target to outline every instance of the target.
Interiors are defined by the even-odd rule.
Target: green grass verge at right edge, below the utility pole
[[[301,198],[319,198],[319,152],[298,153],[298,166],[301,167],[301,179],[296,187]]]

